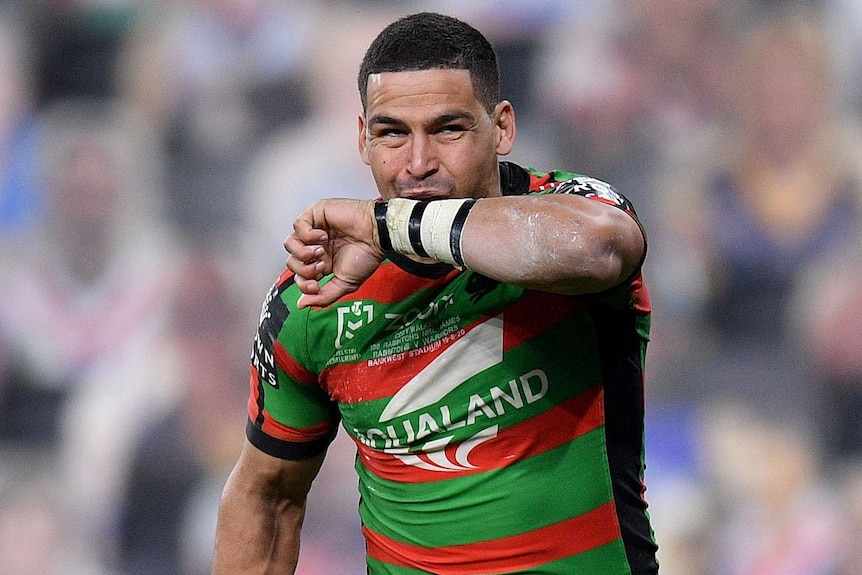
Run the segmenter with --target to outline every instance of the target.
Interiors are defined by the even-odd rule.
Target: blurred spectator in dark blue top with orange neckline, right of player
[[[794,330],[792,295],[806,269],[857,237],[862,139],[834,105],[816,14],[767,16],[741,49],[734,125],[662,188],[651,268],[664,311],[656,383],[689,398],[743,399],[810,426],[821,394],[802,353],[806,336]]]

